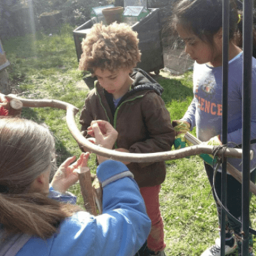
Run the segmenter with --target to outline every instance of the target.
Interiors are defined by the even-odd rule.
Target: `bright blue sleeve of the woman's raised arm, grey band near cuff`
[[[112,179],[127,172],[128,177]],[[50,255],[132,256],[147,240],[150,219],[138,185],[129,170],[117,161],[104,161],[97,168],[103,188],[103,214],[77,212],[63,221],[54,237]],[[113,181],[111,181],[113,180]]]

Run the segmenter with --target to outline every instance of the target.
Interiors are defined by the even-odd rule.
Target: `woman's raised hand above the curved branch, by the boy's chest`
[[[95,144],[104,148],[112,149],[118,136],[118,132],[107,121],[97,120],[92,121],[91,126],[88,127],[87,133],[95,138]],[[106,157],[98,156],[99,163],[105,161]]]

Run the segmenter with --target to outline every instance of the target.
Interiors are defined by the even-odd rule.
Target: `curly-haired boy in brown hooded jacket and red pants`
[[[81,132],[92,120],[106,120],[118,131],[115,150],[153,153],[171,150],[175,132],[161,99],[163,88],[136,67],[141,53],[137,33],[127,24],[95,24],[82,43],[79,69],[97,77],[80,116]],[[152,229],[148,255],[165,255],[159,191],[166,175],[164,161],[125,163],[134,174],[145,200]],[[145,255],[145,253],[144,253]]]

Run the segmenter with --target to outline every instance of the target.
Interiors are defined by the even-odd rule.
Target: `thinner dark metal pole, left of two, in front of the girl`
[[[227,144],[228,131],[228,45],[229,45],[229,0],[223,1],[222,12],[222,143]],[[223,159],[221,172],[221,202],[227,207],[227,159]],[[221,208],[221,256],[225,255],[226,212]]]

